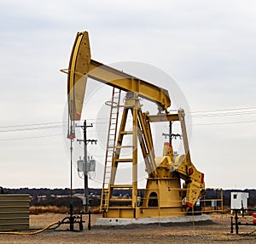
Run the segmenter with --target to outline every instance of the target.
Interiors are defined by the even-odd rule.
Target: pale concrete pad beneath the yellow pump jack
[[[129,224],[188,223],[210,220],[209,215],[180,216],[166,218],[97,218],[97,226],[119,226]]]

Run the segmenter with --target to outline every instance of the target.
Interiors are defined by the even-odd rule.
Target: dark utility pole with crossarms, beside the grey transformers
[[[79,142],[84,142],[84,205],[85,205],[85,213],[89,212],[89,187],[88,187],[88,159],[87,159],[87,144],[97,142],[96,139],[87,139],[86,129],[92,128],[92,124],[87,125],[86,120],[84,120],[84,125],[80,126],[84,132],[84,139],[78,139]]]

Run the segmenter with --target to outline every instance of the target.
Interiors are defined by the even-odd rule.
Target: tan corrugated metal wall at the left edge
[[[0,230],[29,230],[28,194],[0,194]]]

